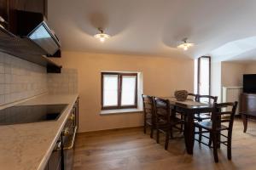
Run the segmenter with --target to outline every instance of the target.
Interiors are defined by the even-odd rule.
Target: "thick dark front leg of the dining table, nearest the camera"
[[[185,136],[185,144],[187,153],[193,155],[194,149],[194,138],[195,138],[195,126],[194,126],[194,115],[193,113],[186,113],[185,119],[185,129],[184,129],[184,136]]]

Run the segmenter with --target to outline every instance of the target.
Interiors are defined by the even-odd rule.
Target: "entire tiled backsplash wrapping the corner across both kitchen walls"
[[[61,74],[47,74],[45,67],[0,52],[0,105],[47,92],[78,93],[78,71],[61,69]]]

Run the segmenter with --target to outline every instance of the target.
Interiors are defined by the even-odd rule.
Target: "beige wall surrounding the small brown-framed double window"
[[[170,96],[177,89],[193,90],[193,59],[64,52],[55,61],[78,69],[80,132],[143,124],[141,113],[100,115],[101,71],[143,72],[144,94]]]

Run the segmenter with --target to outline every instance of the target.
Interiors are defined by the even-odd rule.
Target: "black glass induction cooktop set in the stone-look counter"
[[[67,104],[17,105],[0,111],[0,125],[57,121]]]

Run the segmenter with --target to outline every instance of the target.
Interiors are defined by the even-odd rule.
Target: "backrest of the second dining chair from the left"
[[[154,98],[154,108],[156,122],[164,120],[167,123],[170,122],[171,110],[170,101],[168,99]]]

